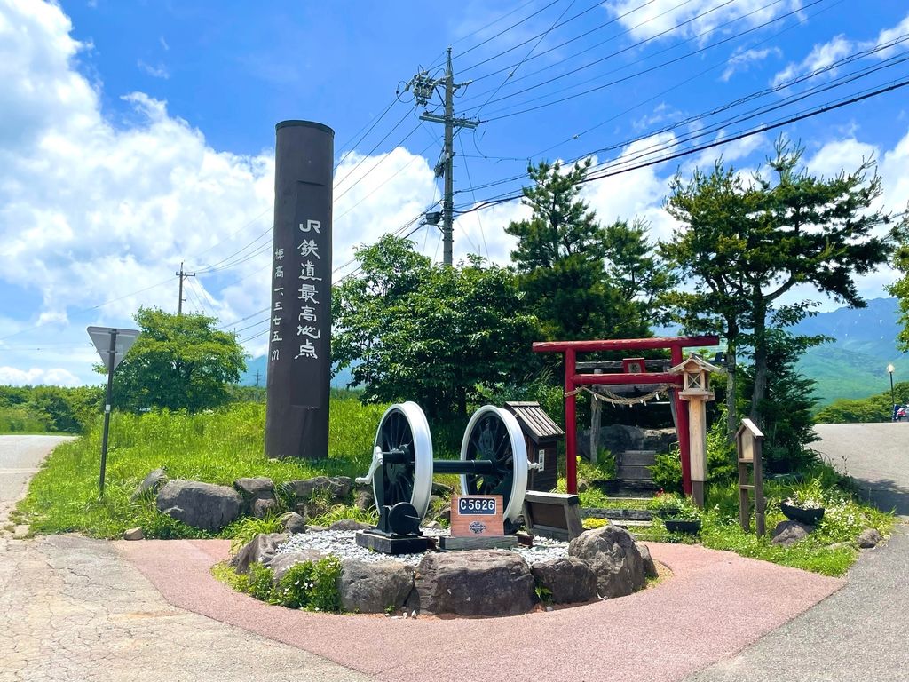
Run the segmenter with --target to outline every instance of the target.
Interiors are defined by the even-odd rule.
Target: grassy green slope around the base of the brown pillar
[[[126,528],[140,526],[146,537],[202,536],[158,514],[147,500],[130,503],[148,472],[164,466],[171,478],[226,486],[243,476],[268,476],[275,484],[320,474],[362,476],[384,410],[355,399],[333,400],[328,459],[322,461],[267,459],[265,406],[255,403],[196,415],[115,413],[103,498],[98,495],[101,432],[95,426],[47,457],[18,509],[36,534],[119,537]]]

